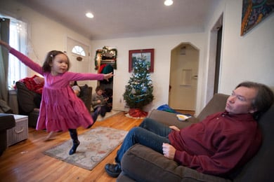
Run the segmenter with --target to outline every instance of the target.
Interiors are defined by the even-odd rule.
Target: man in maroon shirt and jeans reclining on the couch
[[[234,174],[259,150],[262,135],[256,120],[273,102],[269,87],[244,82],[228,97],[224,112],[181,130],[146,118],[129,131],[117,151],[117,164],[105,165],[105,171],[112,177],[119,176],[124,153],[134,144],[141,144],[204,174]]]

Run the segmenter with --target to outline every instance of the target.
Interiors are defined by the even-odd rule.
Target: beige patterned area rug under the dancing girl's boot
[[[95,127],[78,136],[80,145],[73,155],[68,154],[72,147],[71,140],[44,151],[44,154],[72,165],[92,170],[122,143],[126,134],[127,131],[124,130],[110,127]]]

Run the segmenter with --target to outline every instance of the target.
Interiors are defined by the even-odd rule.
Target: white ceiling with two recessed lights
[[[204,31],[219,0],[18,0],[90,38],[126,38]],[[86,12],[94,18],[86,18]]]

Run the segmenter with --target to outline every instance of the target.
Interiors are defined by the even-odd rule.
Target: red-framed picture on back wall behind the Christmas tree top
[[[129,50],[129,72],[138,60],[145,62],[150,72],[154,71],[154,49]]]

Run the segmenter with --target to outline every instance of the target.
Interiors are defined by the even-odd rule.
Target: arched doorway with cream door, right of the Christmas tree
[[[169,106],[175,110],[195,111],[199,50],[181,43],[171,50]]]

